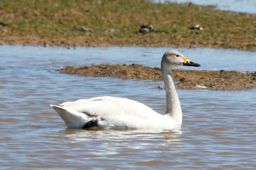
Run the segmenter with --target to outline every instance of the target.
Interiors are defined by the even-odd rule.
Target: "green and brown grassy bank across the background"
[[[2,44],[256,49],[255,16],[194,4],[1,0],[0,22]],[[153,32],[138,32],[148,24]]]

